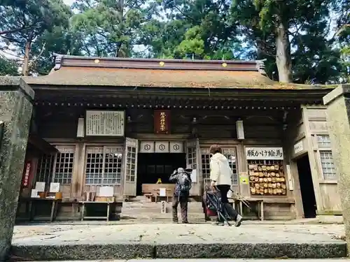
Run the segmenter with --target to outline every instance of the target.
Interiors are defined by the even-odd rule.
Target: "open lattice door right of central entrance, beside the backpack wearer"
[[[191,139],[186,143],[186,163],[187,167],[193,169],[193,183],[190,196],[200,196],[202,187],[202,168],[200,161],[200,140]]]

